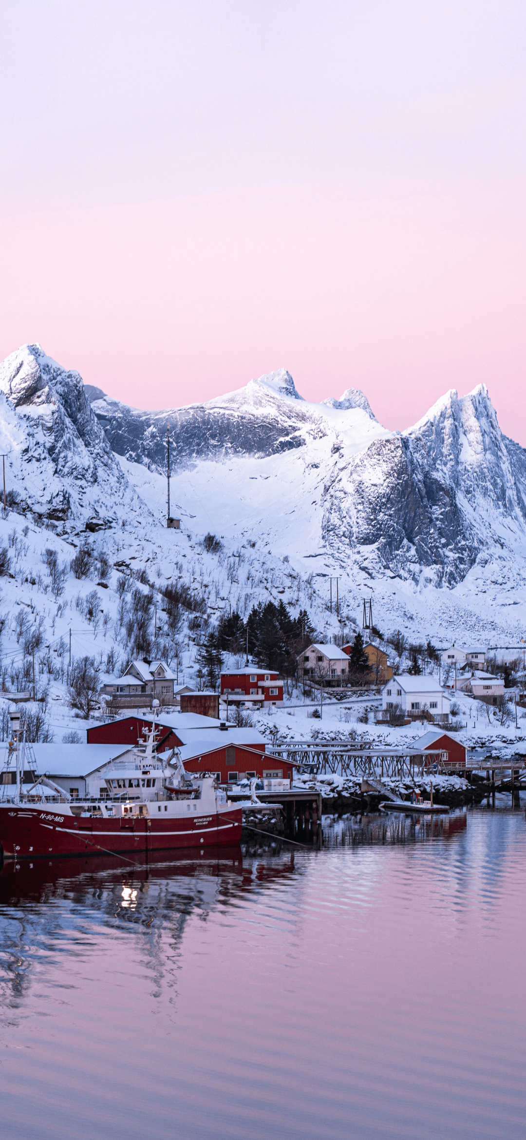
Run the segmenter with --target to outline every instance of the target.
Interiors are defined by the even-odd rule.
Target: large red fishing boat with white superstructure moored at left
[[[189,776],[175,751],[163,762],[155,752],[155,726],[145,744],[105,771],[107,792],[90,803],[69,799],[46,776],[23,791],[17,738],[15,728],[2,773],[13,773],[13,782],[5,779],[1,785],[5,860],[203,849],[240,840],[241,808],[228,803],[214,776]]]

